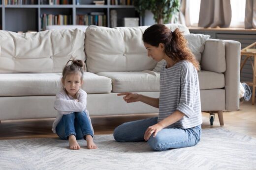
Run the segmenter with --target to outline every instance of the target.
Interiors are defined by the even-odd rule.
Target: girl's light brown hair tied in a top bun
[[[71,62],[71,64],[68,64],[69,62]],[[85,63],[82,60],[75,60],[74,58],[71,58],[70,60],[67,61],[63,69],[62,76],[63,76],[63,79],[65,79],[66,75],[68,74],[81,73],[81,80],[83,80],[84,71],[85,71]]]

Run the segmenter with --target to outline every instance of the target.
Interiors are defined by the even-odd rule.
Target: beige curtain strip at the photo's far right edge
[[[256,0],[246,0],[245,28],[256,28]]]

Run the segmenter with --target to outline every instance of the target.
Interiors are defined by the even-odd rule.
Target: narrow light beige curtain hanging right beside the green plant
[[[183,24],[186,26],[191,26],[190,23],[190,8],[189,8],[189,3],[190,0],[181,0],[181,8],[179,12],[179,24]]]

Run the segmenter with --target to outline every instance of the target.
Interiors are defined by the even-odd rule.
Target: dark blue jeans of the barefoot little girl
[[[68,139],[69,135],[75,135],[76,139],[85,139],[85,135],[93,137],[94,130],[85,112],[73,112],[63,115],[56,126],[56,134],[61,139]]]

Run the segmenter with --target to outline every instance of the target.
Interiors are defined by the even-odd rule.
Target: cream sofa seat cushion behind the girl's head
[[[61,73],[1,73],[0,96],[52,96],[62,88]],[[84,73],[82,87],[88,94],[110,93],[111,79]]]

